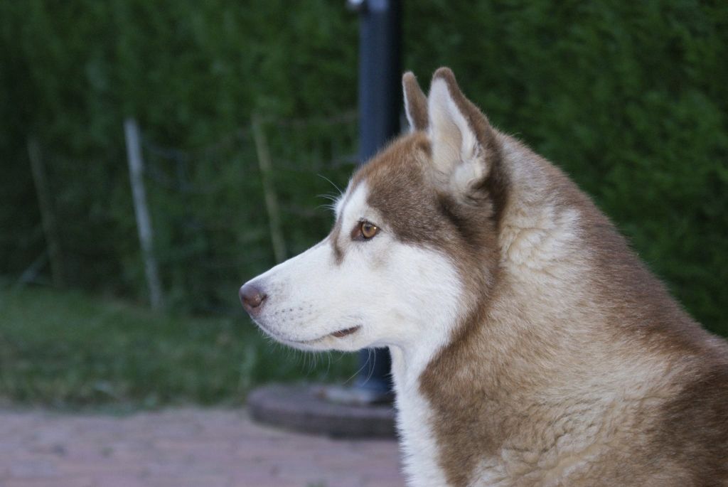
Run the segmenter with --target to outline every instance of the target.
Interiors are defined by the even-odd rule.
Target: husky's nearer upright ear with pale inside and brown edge
[[[460,201],[488,197],[499,146],[488,119],[465,98],[449,68],[432,76],[427,112],[438,186]]]

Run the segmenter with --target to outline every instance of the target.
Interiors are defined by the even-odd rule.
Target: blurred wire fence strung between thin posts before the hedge
[[[165,146],[143,127],[138,134],[160,293],[165,306],[189,311],[237,312],[244,280],[323,238],[332,221],[328,198],[357,162],[353,111],[326,119],[254,116],[196,149]],[[56,284],[101,281],[149,296],[138,208],[135,215],[129,204],[133,176],[130,186],[119,170],[99,173],[92,162],[73,164],[48,149],[38,158],[45,181],[36,189],[47,201],[44,225],[33,234],[46,245],[19,282],[50,275]]]

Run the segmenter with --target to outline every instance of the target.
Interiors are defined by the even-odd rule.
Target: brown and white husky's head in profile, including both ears
[[[450,333],[491,288],[507,187],[494,130],[447,68],[427,97],[411,73],[403,87],[411,132],[355,173],[331,234],[240,288],[284,344],[408,347]]]

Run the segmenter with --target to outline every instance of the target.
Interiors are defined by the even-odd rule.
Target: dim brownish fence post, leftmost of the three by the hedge
[[[48,245],[51,279],[53,285],[60,288],[65,283],[65,278],[63,275],[63,258],[60,255],[58,227],[55,224],[55,214],[53,213],[51,204],[40,144],[35,137],[28,138],[28,158],[31,159],[33,183],[36,186],[38,206],[41,212],[41,226],[43,227],[43,233]]]

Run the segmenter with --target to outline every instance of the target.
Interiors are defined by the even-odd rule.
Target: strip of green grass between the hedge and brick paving
[[[267,381],[344,381],[352,355],[264,338],[248,317],[158,314],[78,291],[0,296],[0,399],[55,408],[242,403]]]

